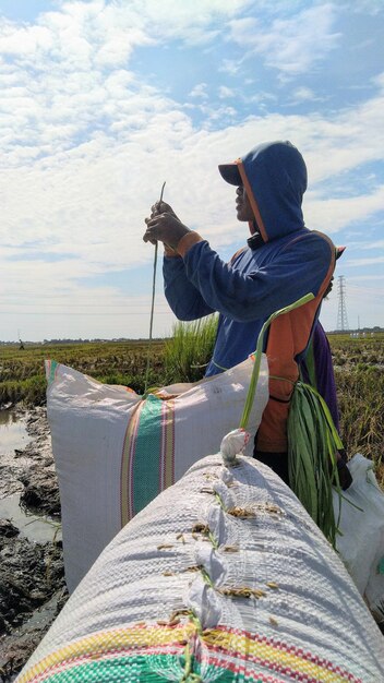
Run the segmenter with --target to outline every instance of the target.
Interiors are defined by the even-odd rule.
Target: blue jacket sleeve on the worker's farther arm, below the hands
[[[181,256],[165,256],[163,275],[166,299],[179,320],[197,320],[216,311],[205,302],[202,292],[189,279]]]

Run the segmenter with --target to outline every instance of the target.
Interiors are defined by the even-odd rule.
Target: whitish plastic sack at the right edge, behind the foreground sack
[[[377,612],[382,602],[384,621],[384,494],[371,460],[357,453],[348,467],[353,482],[343,492],[337,550],[370,608]],[[334,510],[337,519],[339,499],[336,493]]]

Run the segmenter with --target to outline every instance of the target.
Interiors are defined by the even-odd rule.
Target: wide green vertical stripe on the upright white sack
[[[140,414],[133,460],[133,510],[137,514],[160,492],[163,400],[149,394]]]

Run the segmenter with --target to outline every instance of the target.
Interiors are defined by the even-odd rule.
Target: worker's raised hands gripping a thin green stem
[[[176,249],[181,238],[190,232],[189,228],[179,220],[172,207],[165,202],[154,204],[151,218],[145,218],[145,223],[147,227],[143,240],[152,244],[159,241]]]

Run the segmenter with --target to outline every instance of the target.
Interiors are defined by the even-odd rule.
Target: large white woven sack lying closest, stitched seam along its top
[[[111,541],[17,683],[380,683],[383,637],[266,466],[196,463]]]

